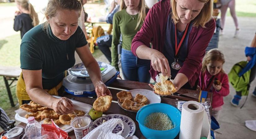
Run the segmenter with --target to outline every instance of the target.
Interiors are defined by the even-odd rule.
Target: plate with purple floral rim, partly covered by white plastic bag
[[[121,136],[130,137],[135,133],[136,125],[135,125],[134,121],[130,117],[125,116],[125,115],[121,115],[121,114],[109,114],[109,115],[106,115],[106,116],[102,116],[102,117],[96,119],[92,123],[92,128],[91,129],[93,130],[97,126],[101,125],[103,120],[108,121],[112,118],[119,118],[123,121],[124,130],[123,130],[123,133],[121,134]],[[122,130],[122,125],[117,124],[116,127],[114,128],[114,130],[112,131],[112,133],[118,133],[121,130]]]

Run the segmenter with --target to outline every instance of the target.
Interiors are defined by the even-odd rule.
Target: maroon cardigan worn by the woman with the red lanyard
[[[148,12],[146,19],[140,29],[132,40],[132,53],[136,55],[136,49],[140,45],[146,45],[163,52],[165,31],[167,26],[168,15],[170,13],[170,0],[162,0],[156,3]],[[199,77],[202,66],[202,59],[205,54],[205,49],[210,42],[214,29],[216,27],[215,21],[211,19],[205,24],[206,28],[201,26],[192,27],[188,38],[188,55],[183,63],[182,68],[178,73],[183,73],[189,80],[191,86],[195,86],[195,81]],[[173,38],[174,40],[174,38]],[[153,67],[150,68],[151,77],[155,80],[155,76],[159,74]]]

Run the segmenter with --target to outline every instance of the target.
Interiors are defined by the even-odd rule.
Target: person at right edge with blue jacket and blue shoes
[[[254,35],[254,38],[253,38],[253,41],[252,41],[250,47],[245,48],[245,52],[250,53],[249,55],[245,53],[245,56],[247,57],[247,61],[249,61],[248,64],[253,65],[253,67],[251,68],[250,79],[249,79],[249,84],[251,84],[251,82],[255,79],[255,76],[256,76],[256,33]],[[247,71],[248,70],[249,69],[247,69]],[[244,73],[245,72],[246,71],[244,71]],[[233,106],[237,107],[239,105],[239,101],[241,99],[241,96],[242,96],[242,92],[236,91],[236,95],[231,100],[231,104]],[[256,87],[255,87],[255,89],[252,93],[252,96],[256,97]]]

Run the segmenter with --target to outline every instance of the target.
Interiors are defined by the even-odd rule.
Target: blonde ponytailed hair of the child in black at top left
[[[38,15],[34,10],[33,5],[28,0],[15,0],[18,5],[20,5],[23,9],[29,11],[29,17],[33,20],[32,25],[36,26],[39,24]]]

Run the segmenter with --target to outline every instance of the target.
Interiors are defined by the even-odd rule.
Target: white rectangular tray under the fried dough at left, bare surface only
[[[56,96],[56,95],[53,95],[54,97],[56,98],[61,98],[61,96]],[[74,108],[76,110],[81,110],[81,111],[84,111],[85,112],[85,115],[88,115],[89,114],[89,111],[91,110],[92,108],[92,105],[89,105],[89,104],[86,104],[86,103],[82,103],[82,102],[79,102],[79,101],[75,101],[75,100],[72,100],[70,99],[72,102],[73,102],[73,105],[74,105]],[[27,124],[28,123],[28,120],[25,118],[25,115],[26,114],[29,114],[31,112],[27,112],[25,110],[22,110],[22,109],[19,109],[19,110],[16,110],[18,111],[18,113],[16,113],[15,115],[15,119],[17,121],[20,121],[22,123],[25,123]],[[43,123],[43,120],[42,121],[39,121],[40,123]],[[70,125],[64,125],[64,124],[60,124],[59,127],[65,131],[65,132],[70,132],[73,130],[73,128],[70,126]]]

